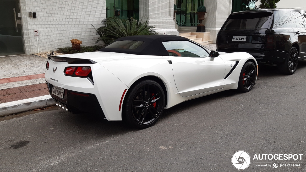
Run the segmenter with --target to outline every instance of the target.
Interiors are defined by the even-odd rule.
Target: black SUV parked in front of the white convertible
[[[217,51],[247,52],[258,63],[278,65],[293,74],[306,59],[306,11],[253,9],[231,13],[217,36]]]

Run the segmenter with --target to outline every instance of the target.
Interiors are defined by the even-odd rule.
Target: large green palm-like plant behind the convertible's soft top
[[[101,40],[106,44],[112,43],[114,40],[132,35],[157,35],[155,27],[148,25],[148,20],[145,22],[137,22],[133,17],[126,20],[121,20],[118,17],[109,17],[104,19],[101,24],[103,26],[95,28],[97,35],[100,36],[96,43]]]

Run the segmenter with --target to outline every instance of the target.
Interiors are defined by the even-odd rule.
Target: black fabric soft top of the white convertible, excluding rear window
[[[187,41],[188,38],[175,35],[135,35],[126,36],[116,39],[116,41],[122,40],[133,40],[133,41],[143,41],[136,49],[123,49],[123,48],[101,48],[99,51],[106,52],[116,52],[116,53],[126,53],[126,54],[139,54],[139,55],[163,55],[169,56],[168,51],[162,45],[165,41]]]

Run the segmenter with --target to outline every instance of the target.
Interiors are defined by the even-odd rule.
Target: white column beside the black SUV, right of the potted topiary
[[[232,12],[232,0],[207,0],[204,6],[207,10],[203,20],[205,31],[211,32],[210,39],[216,43],[219,30]]]

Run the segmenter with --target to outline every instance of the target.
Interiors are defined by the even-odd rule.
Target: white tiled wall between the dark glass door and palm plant
[[[106,18],[105,0],[20,0],[20,6],[26,54],[38,52],[35,29],[40,32],[40,52],[70,47],[73,38],[80,39],[82,46],[95,45],[99,36],[91,24],[99,28]],[[37,18],[29,17],[29,11]]]

